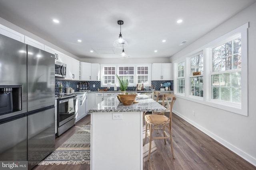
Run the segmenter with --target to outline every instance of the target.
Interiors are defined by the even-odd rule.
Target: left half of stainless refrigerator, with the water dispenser
[[[27,45],[0,34],[0,160],[27,160]]]

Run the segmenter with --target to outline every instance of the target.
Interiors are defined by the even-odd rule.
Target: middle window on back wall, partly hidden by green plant
[[[129,84],[134,84],[134,67],[133,66],[119,66],[118,76],[121,79],[128,80]]]

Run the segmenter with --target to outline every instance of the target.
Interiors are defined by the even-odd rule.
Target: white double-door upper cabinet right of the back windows
[[[153,63],[152,80],[172,80],[172,63]]]

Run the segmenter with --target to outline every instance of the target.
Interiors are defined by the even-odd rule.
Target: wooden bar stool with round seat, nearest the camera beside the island
[[[172,146],[172,107],[176,100],[176,97],[173,94],[163,94],[163,106],[164,103],[167,102],[167,111],[170,111],[169,117],[160,114],[154,115],[145,115],[145,123],[146,123],[146,131],[145,131],[145,139],[143,146],[146,143],[147,136],[149,137],[149,150],[148,150],[148,160],[150,158],[151,153],[151,143],[152,139],[164,139],[164,144],[166,145],[166,139],[170,139],[171,150],[172,150],[172,158],[175,159],[173,146]],[[169,102],[170,101],[170,102]],[[149,132],[148,132],[149,129]],[[161,129],[163,131],[162,137],[152,137],[154,130]],[[166,131],[168,129],[168,131]]]

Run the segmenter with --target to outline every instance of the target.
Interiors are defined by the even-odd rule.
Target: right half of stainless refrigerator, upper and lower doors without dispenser
[[[55,149],[54,55],[30,45],[28,59],[28,169]]]

